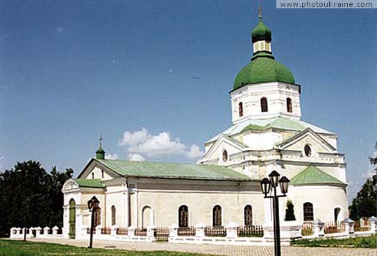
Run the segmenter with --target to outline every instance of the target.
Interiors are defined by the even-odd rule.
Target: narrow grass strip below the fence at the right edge
[[[292,241],[292,245],[308,247],[377,248],[377,235],[373,235],[370,237],[355,237],[346,239],[301,239]]]

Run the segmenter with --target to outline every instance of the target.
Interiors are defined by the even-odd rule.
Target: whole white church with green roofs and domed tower
[[[301,120],[301,85],[275,60],[271,30],[259,17],[251,31],[251,62],[231,88],[232,126],[204,142],[198,164],[108,160],[96,156],[65,182],[63,236],[78,238],[90,227],[87,200],[96,196],[94,225],[189,227],[260,225],[271,222],[272,202],[260,180],[277,171],[290,179],[280,198],[299,223],[342,221],[348,216],[346,163],[337,135]]]

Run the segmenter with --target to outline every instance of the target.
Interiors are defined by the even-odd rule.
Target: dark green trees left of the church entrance
[[[62,226],[62,185],[72,178],[53,167],[47,173],[39,162],[17,162],[14,169],[0,173],[0,237],[8,237],[10,228]]]

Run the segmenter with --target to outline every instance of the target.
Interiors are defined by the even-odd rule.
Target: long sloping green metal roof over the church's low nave
[[[98,159],[96,161],[122,176],[194,180],[251,180],[242,173],[217,165]]]

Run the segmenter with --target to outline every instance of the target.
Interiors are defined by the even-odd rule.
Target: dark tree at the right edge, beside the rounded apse
[[[377,142],[376,142],[377,151]],[[377,155],[369,157],[369,161],[374,165],[374,175],[367,178],[360,191],[352,200],[349,207],[349,217],[358,220],[361,217],[377,216]]]

